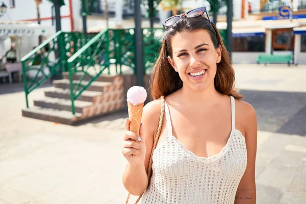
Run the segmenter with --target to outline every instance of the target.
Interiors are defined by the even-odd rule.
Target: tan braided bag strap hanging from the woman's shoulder
[[[160,138],[160,134],[161,134],[161,130],[162,130],[162,125],[163,125],[163,119],[164,119],[165,97],[161,96],[160,99],[162,100],[162,110],[161,110],[161,115],[160,115],[160,121],[158,123],[158,129],[157,129],[156,137],[154,139],[154,144],[153,144],[151,155],[150,155],[149,166],[148,166],[148,170],[147,170],[148,182],[150,182],[150,179],[151,179],[152,162],[153,162],[152,161],[152,156],[153,156],[153,153],[154,153],[154,149],[156,148],[158,140]],[[129,193],[129,195],[127,195],[125,204],[127,204],[129,202],[130,195],[131,195],[131,193]],[[139,202],[139,200],[141,199],[142,195],[143,195],[143,193],[138,197],[138,199],[136,200],[135,204],[137,204]]]

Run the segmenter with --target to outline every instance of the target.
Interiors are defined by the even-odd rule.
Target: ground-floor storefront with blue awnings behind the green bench
[[[245,23],[253,25],[247,27]],[[292,63],[306,64],[306,19],[233,24],[233,63],[256,63],[261,54],[291,54]],[[218,23],[218,28],[226,27]]]

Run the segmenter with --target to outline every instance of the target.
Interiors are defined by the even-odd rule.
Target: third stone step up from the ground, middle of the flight
[[[44,92],[46,97],[70,99],[70,89],[54,88]],[[95,102],[95,98],[103,96],[103,92],[99,91],[83,91],[78,100]]]

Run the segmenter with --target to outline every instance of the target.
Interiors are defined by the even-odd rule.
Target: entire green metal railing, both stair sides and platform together
[[[154,66],[164,31],[163,29],[142,29],[142,31],[145,73],[147,69]],[[93,35],[84,36],[82,33],[57,32],[21,59],[27,108],[29,108],[29,93],[53,75],[61,74],[61,72],[69,72],[73,114],[75,114],[74,100],[103,71],[108,70],[110,74],[111,64],[115,66],[117,74],[122,74],[122,65],[131,68],[135,74],[134,34],[135,29],[109,29],[94,37]],[[74,75],[80,73],[79,80],[74,81]]]

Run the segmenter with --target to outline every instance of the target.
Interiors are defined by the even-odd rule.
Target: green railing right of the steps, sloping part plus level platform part
[[[162,44],[163,29],[142,29],[144,48],[144,69],[154,65],[157,51]],[[75,114],[74,100],[106,69],[110,74],[110,65],[115,72],[122,74],[122,65],[135,68],[135,29],[109,29],[100,32],[85,44],[67,61],[70,83],[71,111]],[[118,69],[119,68],[119,69]],[[81,74],[80,74],[81,73]],[[74,75],[80,74],[79,80]],[[85,78],[86,81],[84,80]],[[89,80],[88,80],[89,78]]]

